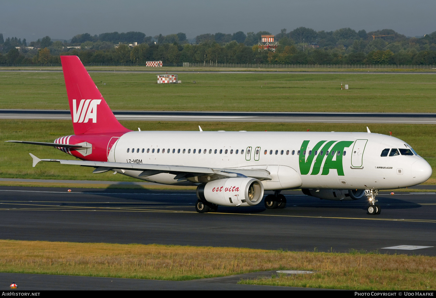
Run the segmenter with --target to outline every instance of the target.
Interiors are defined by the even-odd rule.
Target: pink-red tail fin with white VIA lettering
[[[75,135],[128,132],[113,115],[77,56],[61,56]]]

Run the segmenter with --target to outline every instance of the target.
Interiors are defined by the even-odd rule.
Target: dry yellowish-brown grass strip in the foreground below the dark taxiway
[[[354,290],[436,288],[436,257],[428,256],[19,240],[0,240],[0,247],[0,272],[181,281],[291,269],[315,274],[240,283]]]

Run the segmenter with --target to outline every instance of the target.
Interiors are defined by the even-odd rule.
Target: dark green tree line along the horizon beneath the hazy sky
[[[315,31],[299,27],[275,35],[276,52],[259,51],[263,34],[242,31],[233,34],[201,34],[187,40],[186,34],[146,36],[141,32],[78,34],[70,41],[52,41],[46,36],[32,41],[0,34],[0,65],[59,64],[60,55],[77,55],[84,64],[144,65],[161,60],[165,65],[183,62],[217,64],[436,64],[436,31],[422,37],[406,37],[391,29],[366,32],[341,28]],[[137,42],[136,46],[129,46]],[[20,47],[17,49],[16,47]],[[80,48],[74,48],[80,47]]]

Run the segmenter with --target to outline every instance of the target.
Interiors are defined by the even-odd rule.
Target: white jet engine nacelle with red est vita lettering
[[[221,206],[254,206],[263,198],[263,185],[250,177],[218,179],[199,185],[197,197]]]

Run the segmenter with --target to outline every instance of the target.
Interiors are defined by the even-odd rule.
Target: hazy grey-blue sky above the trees
[[[435,0],[0,0],[0,33],[29,42],[113,31],[184,32],[188,38],[236,31],[277,34],[303,26],[387,28],[416,36],[436,31],[435,11]]]

